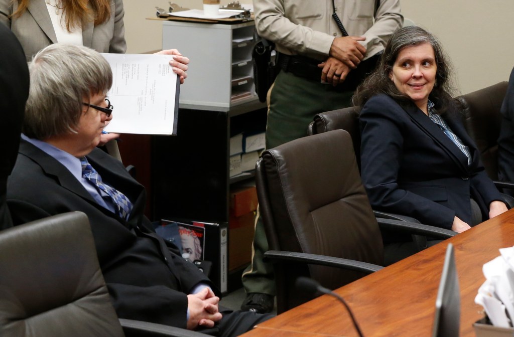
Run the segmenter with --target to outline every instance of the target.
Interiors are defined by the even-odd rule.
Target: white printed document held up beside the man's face
[[[172,55],[102,53],[113,70],[107,98],[113,119],[106,132],[176,134],[179,79],[169,61]]]

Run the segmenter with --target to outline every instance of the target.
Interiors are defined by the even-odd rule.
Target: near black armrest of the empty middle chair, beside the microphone
[[[341,269],[354,270],[366,274],[371,274],[383,268],[381,266],[369,264],[366,262],[350,260],[341,257],[278,250],[268,250],[264,253],[264,258],[269,260],[295,261],[311,265],[338,267]]]

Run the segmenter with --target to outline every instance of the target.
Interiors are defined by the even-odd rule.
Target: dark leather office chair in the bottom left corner
[[[206,336],[159,324],[118,320],[89,221],[81,212],[0,232],[0,335]]]

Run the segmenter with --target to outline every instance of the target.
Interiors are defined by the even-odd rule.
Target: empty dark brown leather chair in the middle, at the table
[[[265,257],[276,264],[278,312],[308,299],[293,286],[298,276],[334,289],[380,269],[382,237],[347,132],[334,130],[268,149],[255,171],[271,250]],[[379,223],[381,229],[454,235],[403,221]]]

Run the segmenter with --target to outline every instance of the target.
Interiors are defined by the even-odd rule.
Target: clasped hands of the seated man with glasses
[[[222,319],[218,309],[219,297],[209,288],[196,294],[188,295],[189,320],[187,328],[194,330],[198,326],[212,328],[214,323]]]

